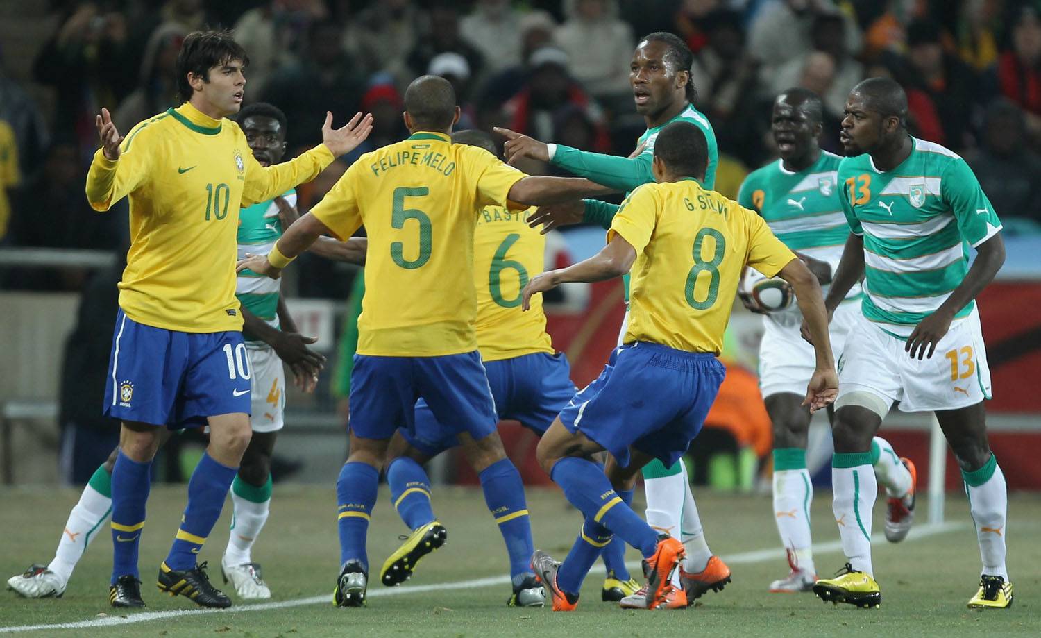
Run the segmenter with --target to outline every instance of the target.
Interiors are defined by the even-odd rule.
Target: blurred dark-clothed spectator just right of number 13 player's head
[[[915,76],[913,84],[933,101],[943,128],[943,138],[930,142],[956,152],[970,146],[975,73],[957,56],[944,52],[940,27],[934,22],[908,25],[908,60]]]

